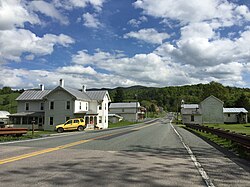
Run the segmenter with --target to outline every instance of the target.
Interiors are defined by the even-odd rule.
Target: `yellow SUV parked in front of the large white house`
[[[75,118],[75,119],[69,119],[63,124],[57,125],[55,130],[59,133],[70,130],[83,131],[85,127],[86,125],[83,118]]]

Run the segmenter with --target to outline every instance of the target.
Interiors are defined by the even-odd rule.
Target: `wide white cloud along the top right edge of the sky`
[[[249,16],[246,6],[237,8],[224,0],[137,0],[134,6],[144,14],[178,20],[181,24],[213,20],[217,26],[232,26],[239,23],[241,16]]]

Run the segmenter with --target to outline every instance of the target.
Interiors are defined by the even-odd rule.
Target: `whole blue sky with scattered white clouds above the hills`
[[[0,88],[250,88],[249,0],[0,0]]]

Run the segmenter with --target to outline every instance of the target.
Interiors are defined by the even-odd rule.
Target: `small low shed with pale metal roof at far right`
[[[245,108],[223,108],[225,123],[247,123],[248,111]]]

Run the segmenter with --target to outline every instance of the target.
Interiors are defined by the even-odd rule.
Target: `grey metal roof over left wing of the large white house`
[[[26,100],[42,100],[44,96],[50,93],[51,90],[26,90],[21,95],[19,95],[17,101]]]

